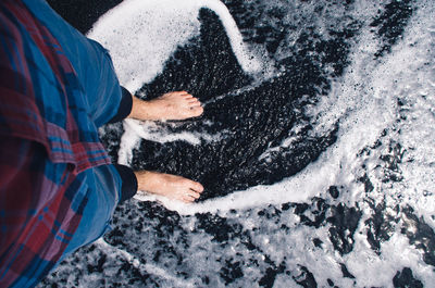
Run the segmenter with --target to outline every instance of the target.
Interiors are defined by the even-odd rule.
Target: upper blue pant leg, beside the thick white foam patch
[[[45,0],[23,0],[59,41],[86,93],[88,115],[97,127],[117,114],[122,89],[109,52],[66,23]]]

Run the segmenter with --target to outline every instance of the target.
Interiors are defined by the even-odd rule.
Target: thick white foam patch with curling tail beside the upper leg
[[[249,52],[234,18],[219,0],[123,1],[96,23],[88,37],[110,50],[121,84],[136,91],[162,72],[178,46],[199,35],[201,8],[217,14],[241,67],[258,72],[261,62]]]

